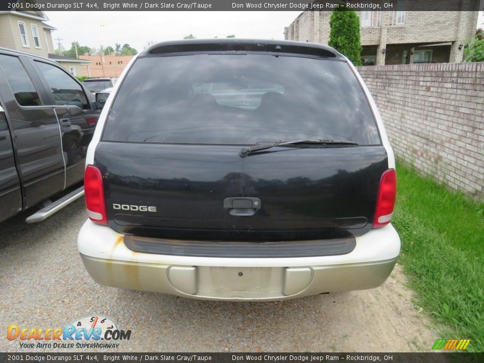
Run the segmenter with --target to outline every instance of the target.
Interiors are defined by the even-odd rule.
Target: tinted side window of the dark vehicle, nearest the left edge
[[[0,55],[0,67],[7,77],[19,105],[38,106],[41,104],[37,90],[19,58],[2,54]]]

